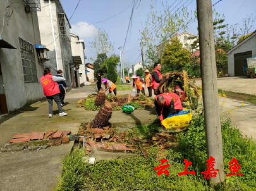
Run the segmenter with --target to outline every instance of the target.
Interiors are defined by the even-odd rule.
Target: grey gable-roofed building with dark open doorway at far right
[[[232,49],[228,50],[228,76],[243,76],[244,61],[256,57],[256,31]]]

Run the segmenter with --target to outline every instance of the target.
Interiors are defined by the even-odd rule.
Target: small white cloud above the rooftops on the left
[[[97,31],[93,25],[88,25],[88,22],[78,22],[76,25],[71,25],[70,33],[76,34],[80,39],[93,37],[93,34]]]

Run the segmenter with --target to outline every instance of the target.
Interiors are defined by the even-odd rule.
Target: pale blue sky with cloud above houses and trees
[[[182,1],[180,3],[181,5],[187,0],[165,0],[164,2],[168,5],[172,5],[173,3],[178,4],[180,1]],[[188,3],[190,3],[190,1],[192,1],[192,3],[189,4],[188,11],[195,11],[196,0],[188,0]],[[218,1],[219,0],[212,0],[212,4]],[[61,4],[63,5],[68,19],[74,12],[78,2],[79,0],[61,0]],[[92,62],[89,58],[94,56],[90,49],[89,42],[93,40],[93,33],[97,31],[96,28],[104,29],[106,33],[109,34],[109,39],[113,43],[115,54],[120,54],[118,47],[124,47],[127,27],[131,17],[131,3],[132,0],[81,0],[72,19],[70,19],[70,24],[72,25],[70,33],[77,34],[80,39],[84,40],[84,54],[88,58],[86,59],[86,63]],[[130,66],[141,62],[142,60],[140,56],[141,48],[138,47],[138,40],[141,38],[140,30],[145,27],[147,14],[150,12],[150,3],[151,0],[141,0],[140,6],[138,6],[133,13],[131,36],[129,34],[124,49],[124,61],[128,61]],[[157,8],[159,10],[163,10],[161,3],[161,0],[157,0]],[[175,4],[173,5],[173,8]],[[177,8],[179,8],[180,5],[177,6]],[[214,8],[218,13],[225,15],[225,24],[229,25],[238,23],[242,26],[242,19],[247,15],[251,15],[252,13],[254,16],[256,15],[255,0],[222,0],[220,3],[216,4]],[[121,11],[123,12],[120,13]],[[174,11],[175,10],[173,10],[173,12]],[[116,15],[118,13],[120,14]],[[104,22],[100,22],[114,15],[116,16]],[[189,33],[198,34],[196,27],[197,20],[189,25],[187,31]],[[256,23],[253,29],[256,29]],[[179,33],[182,33],[182,31],[179,31]]]

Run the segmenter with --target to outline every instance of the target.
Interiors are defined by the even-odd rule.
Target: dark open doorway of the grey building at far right
[[[241,52],[234,54],[234,59],[235,59],[235,76],[243,76],[246,75],[244,74],[243,71],[243,65],[244,61],[246,58],[252,57],[252,51],[247,51],[247,52]]]

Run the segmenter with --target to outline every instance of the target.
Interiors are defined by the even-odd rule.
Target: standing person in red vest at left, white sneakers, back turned
[[[57,83],[62,81],[65,81],[65,78],[51,75],[50,68],[45,68],[44,76],[40,78],[40,82],[44,89],[44,95],[46,96],[49,103],[49,118],[53,117],[52,100],[57,103],[60,116],[67,116],[67,113],[63,112],[61,107],[61,100],[59,96],[60,88]]]

